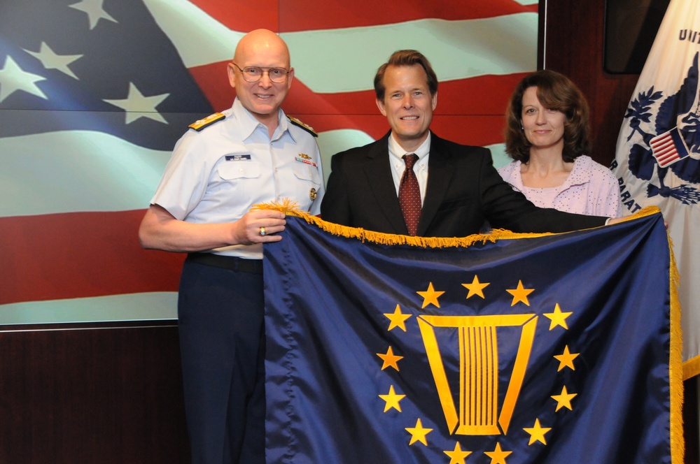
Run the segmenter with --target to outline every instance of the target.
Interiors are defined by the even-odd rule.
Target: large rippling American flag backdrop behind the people
[[[279,32],[283,105],[335,152],[388,131],[372,79],[414,48],[440,79],[433,130],[503,154],[503,113],[535,69],[533,0],[3,0],[0,324],[173,319],[183,255],[137,230],[176,140],[229,108],[247,31]]]

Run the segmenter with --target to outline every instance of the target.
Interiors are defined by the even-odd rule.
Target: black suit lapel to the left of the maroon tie
[[[374,203],[391,225],[393,233],[406,235],[408,229],[403,221],[401,206],[396,196],[396,188],[391,175],[388,152],[388,134],[375,142],[367,152],[365,174],[370,183]]]

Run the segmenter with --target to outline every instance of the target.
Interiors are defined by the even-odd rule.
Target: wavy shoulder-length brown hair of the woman
[[[586,97],[565,75],[548,69],[526,75],[510,96],[505,112],[505,152],[517,161],[530,161],[531,143],[525,137],[521,123],[523,94],[530,87],[537,87],[537,98],[542,106],[566,115],[561,153],[563,160],[571,163],[575,158],[590,152]]]

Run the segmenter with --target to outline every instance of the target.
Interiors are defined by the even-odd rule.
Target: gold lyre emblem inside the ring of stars
[[[430,370],[450,435],[505,435],[535,339],[536,314],[418,317]],[[450,389],[435,328],[456,328],[459,404]],[[519,327],[520,341],[503,404],[498,407],[498,328]],[[500,426],[500,429],[498,428]]]

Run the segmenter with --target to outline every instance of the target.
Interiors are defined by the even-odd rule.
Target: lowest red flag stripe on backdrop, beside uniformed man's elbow
[[[144,250],[144,210],[0,218],[0,304],[177,291],[184,254]]]

